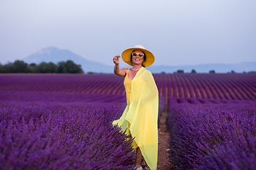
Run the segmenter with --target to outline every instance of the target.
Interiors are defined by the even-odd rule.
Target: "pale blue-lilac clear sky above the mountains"
[[[154,65],[256,62],[255,0],[1,0],[0,62],[46,47],[113,65],[134,45]]]

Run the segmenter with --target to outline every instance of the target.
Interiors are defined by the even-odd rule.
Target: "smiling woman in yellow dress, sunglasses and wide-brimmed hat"
[[[137,169],[142,169],[142,156],[147,164],[145,169],[156,169],[159,96],[151,72],[144,68],[154,63],[154,55],[142,45],[136,45],[122,52],[122,60],[132,68],[119,69],[119,55],[116,55],[113,58],[114,74],[125,77],[127,107],[113,125],[119,125],[123,131],[127,130],[127,135],[135,137],[132,148],[138,154]]]

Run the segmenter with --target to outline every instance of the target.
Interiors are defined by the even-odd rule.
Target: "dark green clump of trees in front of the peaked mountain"
[[[71,60],[66,62],[41,62],[40,64],[27,64],[26,62],[16,60],[8,64],[1,65],[0,73],[82,73],[81,65],[75,64]]]

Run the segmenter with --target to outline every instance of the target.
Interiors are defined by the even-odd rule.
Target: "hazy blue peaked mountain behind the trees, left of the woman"
[[[75,64],[80,64],[84,72],[113,73],[113,67],[111,66],[86,60],[70,50],[58,49],[57,47],[44,48],[23,59],[28,64],[39,64],[41,62],[53,62],[57,64],[58,62],[66,62],[67,60],[72,60]]]

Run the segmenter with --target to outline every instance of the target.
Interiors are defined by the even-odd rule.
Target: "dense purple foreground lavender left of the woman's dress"
[[[1,102],[0,169],[133,169],[120,106]]]

